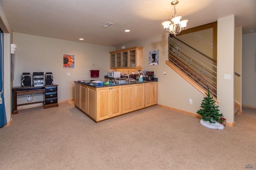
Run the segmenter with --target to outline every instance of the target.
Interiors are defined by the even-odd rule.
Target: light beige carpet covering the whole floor
[[[0,128],[1,170],[243,170],[256,168],[256,109],[236,127],[152,106],[95,123],[69,103],[34,107]]]

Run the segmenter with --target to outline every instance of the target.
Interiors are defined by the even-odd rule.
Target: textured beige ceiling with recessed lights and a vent
[[[174,15],[172,0],[0,0],[13,32],[107,46],[168,34],[161,23]],[[235,15],[243,34],[256,29],[256,0],[179,0],[187,28]],[[102,25],[111,22],[107,28]],[[125,29],[131,31],[126,33]],[[84,38],[83,41],[79,38]]]

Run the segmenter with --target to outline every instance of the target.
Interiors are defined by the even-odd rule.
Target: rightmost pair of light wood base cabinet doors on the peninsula
[[[157,104],[157,82],[145,83],[145,107]]]

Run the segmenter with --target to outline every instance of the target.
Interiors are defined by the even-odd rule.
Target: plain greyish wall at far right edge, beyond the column
[[[256,33],[242,37],[242,104],[256,108]]]

